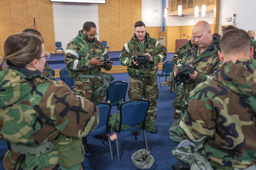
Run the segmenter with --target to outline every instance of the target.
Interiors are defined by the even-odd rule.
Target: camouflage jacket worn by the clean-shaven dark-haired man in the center
[[[156,39],[150,38],[150,35],[148,33],[146,33],[143,46],[136,38],[135,33],[133,34],[132,38],[135,40],[133,49],[132,51],[130,51],[129,49],[131,40],[124,44],[124,47],[119,57],[120,63],[123,66],[133,67],[135,69],[136,76],[143,77],[143,76],[152,76],[156,74],[156,72],[158,71],[157,63],[163,62],[166,59],[167,50],[165,46],[159,43]],[[155,54],[153,52],[153,47],[151,44],[154,47]],[[149,67],[144,68],[143,66],[141,66],[141,64],[138,66],[135,66],[135,64],[133,64],[131,56],[134,56],[135,54],[137,56],[142,56],[142,55],[145,55],[146,53],[149,53],[151,57],[154,59],[153,62],[147,62],[149,64]]]

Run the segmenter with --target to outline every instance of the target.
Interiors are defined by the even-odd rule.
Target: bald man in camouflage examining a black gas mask
[[[210,78],[211,74],[214,73],[221,64],[218,50],[219,50],[219,38],[212,37],[211,27],[206,21],[199,21],[196,23],[192,30],[192,36],[195,37],[196,46],[187,50],[184,58],[179,64],[191,63],[196,67],[194,74],[189,74],[190,79],[188,83],[183,83],[183,91],[186,102],[189,103],[189,92],[195,88],[195,86],[201,82],[206,81]],[[178,67],[176,67],[178,68]],[[178,70],[174,71],[176,75]],[[175,115],[180,116],[180,113]],[[180,134],[176,133],[180,119],[174,121],[169,128],[170,139],[176,142],[182,140]],[[175,132],[176,134],[172,135]]]

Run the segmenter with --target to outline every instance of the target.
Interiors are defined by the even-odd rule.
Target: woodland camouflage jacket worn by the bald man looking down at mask
[[[183,89],[187,99],[189,99],[189,92],[193,90],[197,84],[206,81],[222,63],[218,55],[220,39],[217,37],[213,37],[213,39],[214,42],[212,42],[199,56],[197,56],[199,47],[196,45],[194,48],[187,50],[184,58],[180,61],[181,64],[193,64],[196,67],[196,71],[198,71],[196,79],[189,79],[188,83],[184,85]]]

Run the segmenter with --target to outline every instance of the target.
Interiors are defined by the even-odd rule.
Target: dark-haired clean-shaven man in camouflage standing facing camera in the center
[[[166,48],[156,39],[150,38],[146,32],[146,26],[142,21],[134,24],[134,34],[130,41],[124,44],[119,60],[123,66],[127,67],[130,75],[128,96],[129,99],[144,97],[150,101],[148,113],[153,122],[156,121],[156,109],[158,98],[157,87],[157,63],[166,59]],[[134,62],[133,56],[148,55],[148,62],[139,64]],[[151,133],[157,133],[156,127]]]

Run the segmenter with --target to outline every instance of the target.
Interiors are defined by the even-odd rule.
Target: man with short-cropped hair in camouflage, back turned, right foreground
[[[213,169],[256,169],[256,61],[247,32],[233,29],[220,40],[223,66],[196,86],[179,131],[203,149]],[[248,168],[249,167],[249,168]]]

